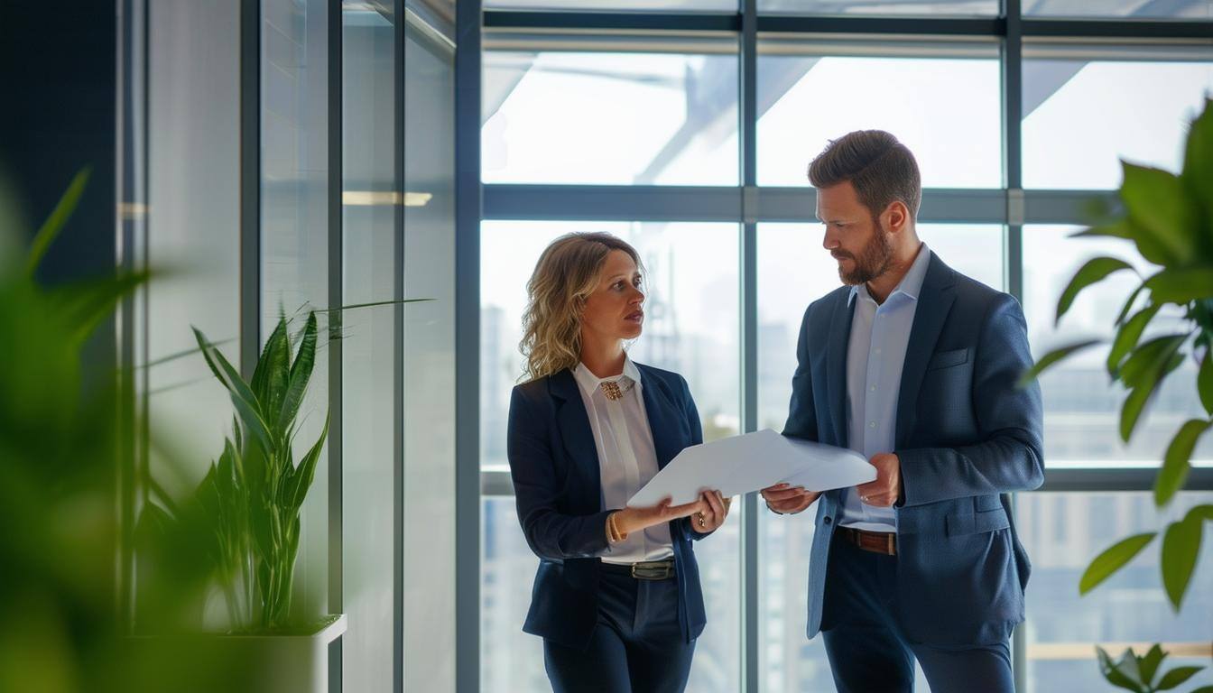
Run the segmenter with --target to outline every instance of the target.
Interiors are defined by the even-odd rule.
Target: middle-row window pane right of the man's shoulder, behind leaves
[[[1040,358],[1052,348],[1090,336],[1111,336],[1112,320],[1137,286],[1126,272],[1112,274],[1083,291],[1054,326],[1057,302],[1075,271],[1092,257],[1111,255],[1135,259],[1139,272],[1151,266],[1128,242],[1069,238],[1080,227],[1024,227],[1024,312],[1032,353]],[[1168,334],[1179,325],[1177,311],[1160,312],[1143,339]],[[1048,466],[1155,465],[1179,426],[1203,411],[1196,393],[1196,365],[1184,363],[1158,391],[1133,441],[1120,439],[1120,410],[1124,391],[1110,385],[1107,348],[1095,347],[1047,370],[1041,377],[1044,396],[1044,459]],[[1213,442],[1203,439],[1194,460],[1213,459]]]

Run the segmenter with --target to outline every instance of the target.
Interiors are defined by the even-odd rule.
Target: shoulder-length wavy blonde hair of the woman
[[[523,339],[518,342],[526,357],[523,381],[560,373],[581,360],[581,313],[611,250],[627,252],[640,268],[636,249],[609,233],[569,233],[543,250],[526,283]]]

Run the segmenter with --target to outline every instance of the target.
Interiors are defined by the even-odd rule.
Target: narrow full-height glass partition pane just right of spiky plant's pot
[[[370,193],[395,188],[395,30],[361,4],[343,2],[341,22],[342,302],[355,305],[395,294],[395,208],[366,204]],[[351,311],[341,329],[351,337],[341,342],[342,610],[349,614],[341,677],[346,691],[385,691],[394,661],[394,618],[383,608],[395,580],[394,312]]]

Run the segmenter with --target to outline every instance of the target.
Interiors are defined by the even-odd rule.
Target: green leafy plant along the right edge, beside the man
[[[1139,285],[1127,296],[1116,317],[1110,340],[1083,340],[1043,356],[1024,374],[1024,381],[1060,363],[1069,356],[1100,343],[1111,343],[1107,374],[1127,391],[1121,407],[1120,436],[1128,442],[1143,420],[1146,405],[1166,379],[1186,359],[1197,364],[1195,386],[1203,411],[1194,411],[1167,447],[1154,484],[1155,505],[1163,510],[1184,487],[1191,468],[1192,450],[1213,428],[1213,101],[1192,121],[1184,153],[1183,170],[1175,175],[1161,169],[1122,163],[1120,188],[1123,212],[1095,210],[1106,223],[1077,233],[1080,237],[1110,237],[1133,243],[1141,259],[1156,267],[1149,276],[1138,274]],[[1134,272],[1121,257],[1101,256],[1075,273],[1058,300],[1057,319],[1087,288],[1118,272]],[[1168,308],[1169,307],[1169,308]],[[1180,328],[1144,339],[1146,328],[1162,309],[1181,314]],[[1078,591],[1086,595],[1124,567],[1146,546],[1162,536],[1160,566],[1162,585],[1179,612],[1196,569],[1206,522],[1213,522],[1213,505],[1197,505],[1179,521],[1160,532],[1146,532],[1115,543],[1097,556],[1083,573]],[[1208,589],[1208,585],[1202,585]],[[1109,683],[1150,693],[1168,691],[1188,681],[1203,668],[1177,668],[1155,681],[1166,653],[1155,646],[1145,655],[1132,649],[1112,660],[1097,648],[1100,671]],[[1206,686],[1194,693],[1213,693]]]

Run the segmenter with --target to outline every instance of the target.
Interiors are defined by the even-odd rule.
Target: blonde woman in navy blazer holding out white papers
[[[606,233],[552,242],[528,283],[526,382],[509,403],[509,471],[540,557],[523,630],[543,638],[557,693],[677,693],[687,687],[704,596],[691,539],[729,501],[627,507],[683,448],[704,439],[687,381],[633,363],[639,257]]]

